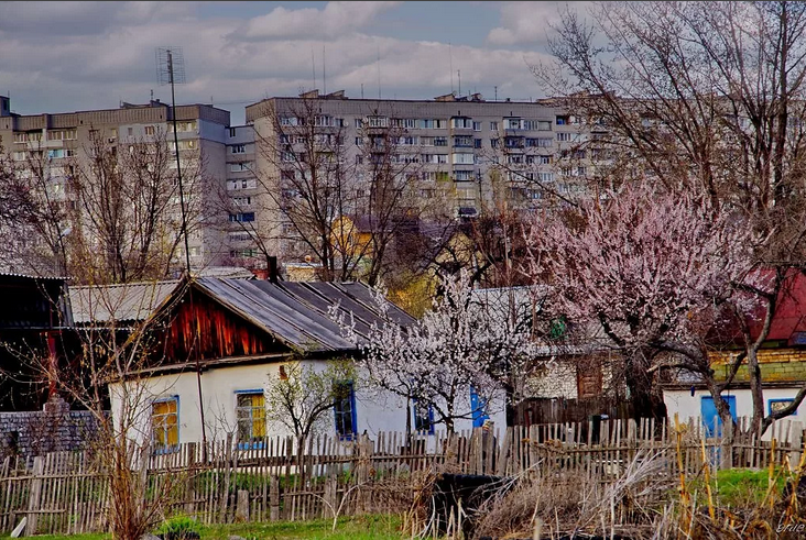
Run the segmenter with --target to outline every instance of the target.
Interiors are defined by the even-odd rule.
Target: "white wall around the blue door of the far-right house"
[[[799,387],[783,387],[783,388],[766,388],[764,389],[764,414],[770,412],[770,400],[774,399],[792,399],[797,394]],[[736,396],[736,416],[737,417],[750,417],[753,414],[753,400],[750,394],[750,389],[732,389],[722,393],[723,396]],[[672,422],[674,422],[675,414],[678,415],[680,422],[688,421],[693,418],[695,421],[700,421],[701,416],[701,403],[704,397],[710,397],[710,393],[706,389],[695,389],[694,396],[691,390],[663,390],[663,399],[666,404],[666,414]],[[787,420],[804,421],[806,417],[806,404],[800,404],[797,412]],[[764,440],[772,438],[772,430],[767,430],[764,433]]]

